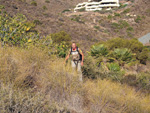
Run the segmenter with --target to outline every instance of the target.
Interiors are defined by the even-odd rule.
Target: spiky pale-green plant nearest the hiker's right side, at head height
[[[108,49],[103,45],[93,45],[91,48],[91,55],[92,56],[106,56],[108,54]]]

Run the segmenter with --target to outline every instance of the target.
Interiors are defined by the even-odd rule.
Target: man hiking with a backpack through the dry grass
[[[73,68],[73,71],[74,72],[77,71],[79,80],[82,81],[81,66],[83,66],[84,55],[81,49],[76,46],[75,42],[72,43],[72,47],[69,50],[69,53],[65,58],[65,63],[69,59],[70,55],[72,56],[71,66]]]

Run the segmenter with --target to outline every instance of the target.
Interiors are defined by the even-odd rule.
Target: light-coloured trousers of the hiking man
[[[73,72],[77,72],[79,81],[82,81],[81,61],[71,61]]]

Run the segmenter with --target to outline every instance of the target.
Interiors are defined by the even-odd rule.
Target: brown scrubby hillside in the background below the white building
[[[64,30],[84,48],[89,48],[98,40],[139,38],[150,31],[149,0],[135,0],[131,5],[112,12],[76,13],[73,12],[75,5],[85,0],[47,1],[36,0],[32,4],[32,0],[1,0],[0,4],[5,6],[10,15],[22,13],[28,20],[38,21],[36,29],[42,36]],[[120,20],[125,20],[129,25],[123,25],[123,29],[118,30],[116,23]]]

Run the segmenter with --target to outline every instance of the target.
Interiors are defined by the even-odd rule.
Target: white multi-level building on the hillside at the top
[[[85,8],[85,11],[111,10],[114,7],[119,7],[119,0],[88,0],[88,2],[79,3],[74,11]]]

